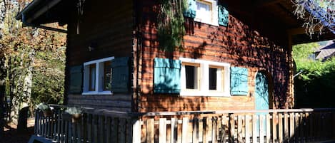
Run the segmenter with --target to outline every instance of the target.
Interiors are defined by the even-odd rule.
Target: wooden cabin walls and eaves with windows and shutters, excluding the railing
[[[34,0],[16,18],[67,24],[66,105],[125,112],[293,107],[291,45],[309,37],[299,33],[290,1],[247,3],[189,1],[194,13],[185,15],[182,51],[159,47],[157,1]]]

